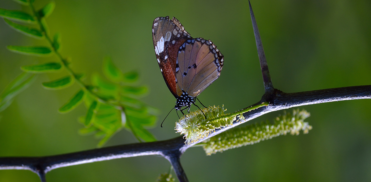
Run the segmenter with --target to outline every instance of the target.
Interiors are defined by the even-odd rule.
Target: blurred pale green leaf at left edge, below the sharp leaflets
[[[35,78],[34,76],[35,75],[30,75],[28,73],[18,75],[9,85],[7,85],[3,92],[1,92],[0,101],[3,103],[11,100],[32,83]]]

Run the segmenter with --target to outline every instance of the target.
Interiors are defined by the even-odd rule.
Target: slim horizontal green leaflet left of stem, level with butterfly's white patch
[[[52,50],[49,47],[42,46],[7,46],[10,51],[26,55],[48,56]]]

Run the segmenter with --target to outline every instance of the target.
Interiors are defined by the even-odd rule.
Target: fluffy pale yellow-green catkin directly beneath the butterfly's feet
[[[226,116],[224,111],[227,110],[223,106],[214,105],[201,110],[190,112],[175,123],[175,130],[177,133],[184,134],[184,143],[186,144],[191,144],[206,137],[217,128],[230,126],[236,120],[236,116],[223,117]],[[205,119],[203,113],[207,119]]]

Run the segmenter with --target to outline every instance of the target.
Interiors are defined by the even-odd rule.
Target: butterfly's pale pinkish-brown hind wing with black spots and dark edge
[[[175,67],[177,95],[197,97],[219,76],[224,56],[210,40],[187,40],[178,50]]]

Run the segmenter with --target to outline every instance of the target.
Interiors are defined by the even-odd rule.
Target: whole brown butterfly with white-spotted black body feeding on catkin
[[[155,18],[152,38],[162,76],[177,99],[174,108],[189,112],[197,95],[220,76],[224,56],[211,40],[192,38],[175,17]]]

